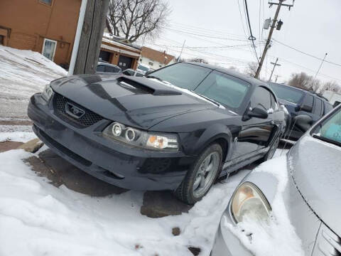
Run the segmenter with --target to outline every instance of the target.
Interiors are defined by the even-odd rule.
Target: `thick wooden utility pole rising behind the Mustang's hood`
[[[95,73],[108,10],[109,0],[87,0],[75,68],[70,75]]]

